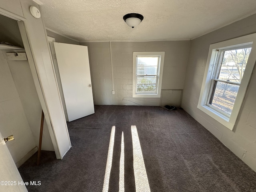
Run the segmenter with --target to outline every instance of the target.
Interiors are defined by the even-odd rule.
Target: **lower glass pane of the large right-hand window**
[[[209,104],[231,114],[239,85],[214,81],[213,92]]]

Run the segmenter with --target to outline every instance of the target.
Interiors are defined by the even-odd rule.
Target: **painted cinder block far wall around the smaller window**
[[[190,41],[80,43],[88,46],[94,104],[159,106],[160,98],[132,98],[132,52],[164,51],[162,89],[183,89]],[[112,94],[112,90],[115,94]]]

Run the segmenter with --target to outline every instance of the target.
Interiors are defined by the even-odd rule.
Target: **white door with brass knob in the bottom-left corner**
[[[10,141],[11,142],[11,141]],[[0,191],[28,192],[0,132]]]

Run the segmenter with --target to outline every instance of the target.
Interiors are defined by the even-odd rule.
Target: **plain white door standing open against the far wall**
[[[54,42],[67,121],[94,114],[87,46]]]

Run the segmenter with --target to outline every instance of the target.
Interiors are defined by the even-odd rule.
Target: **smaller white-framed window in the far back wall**
[[[164,52],[133,52],[132,97],[160,97]]]

